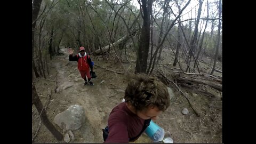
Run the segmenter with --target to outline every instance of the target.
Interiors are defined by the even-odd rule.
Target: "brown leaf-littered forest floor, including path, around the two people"
[[[94,65],[97,78],[92,80],[94,86],[84,86],[84,80],[77,70],[77,62],[68,60],[68,51],[66,48],[62,48],[61,52],[64,54],[55,56],[50,63],[50,75],[48,76],[46,74],[46,79],[43,77],[34,79],[37,93],[43,105],[47,100],[49,90],[51,91],[51,101],[46,108],[46,114],[50,122],[53,123],[54,117],[65,111],[69,106],[82,106],[85,110],[85,122],[80,129],[73,131],[75,138],[70,143],[101,143],[103,142],[102,129],[107,125],[109,113],[124,97],[124,91],[127,85],[126,75],[109,71],[123,71],[119,62],[110,59],[104,61],[99,56],[99,60],[96,60],[91,56],[94,64],[97,65]],[[170,55],[170,53],[167,53],[167,50],[163,50],[163,60],[160,63],[172,62],[173,57],[170,57]],[[200,63],[200,65],[203,67],[205,64]],[[135,62],[126,63],[124,66],[127,69],[134,70]],[[217,63],[217,67],[222,70],[221,62]],[[221,76],[221,73],[214,73],[214,75]],[[63,89],[66,85],[71,86]],[[56,87],[58,87],[58,91],[55,93],[54,90]],[[209,92],[213,93],[216,97],[205,97],[203,94],[195,93],[181,87],[181,90],[188,95],[187,97],[190,103],[201,114],[198,117],[189,106],[188,101],[174,87],[171,87],[171,89],[174,92],[171,105],[164,113],[159,115],[155,123],[161,126],[165,132],[170,132],[170,137],[174,143],[221,143],[222,100],[220,92],[209,88]],[[188,115],[182,115],[181,111],[183,108],[189,110]],[[39,123],[41,123],[41,119],[38,117],[38,112],[33,105],[32,137],[37,133],[33,142],[65,143],[65,141],[58,141],[54,138],[44,124]],[[54,125],[62,132],[58,125]],[[145,143],[152,141],[143,133],[135,142]]]

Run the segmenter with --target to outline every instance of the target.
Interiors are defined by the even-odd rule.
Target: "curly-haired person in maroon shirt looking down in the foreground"
[[[124,99],[109,115],[108,135],[105,138],[103,131],[104,143],[137,140],[151,119],[156,119],[170,106],[166,86],[157,78],[146,74],[134,75],[126,87]]]

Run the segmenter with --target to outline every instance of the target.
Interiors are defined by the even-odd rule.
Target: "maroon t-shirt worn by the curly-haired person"
[[[126,103],[119,103],[108,118],[108,138],[104,143],[128,143],[141,132],[145,119],[133,114]]]

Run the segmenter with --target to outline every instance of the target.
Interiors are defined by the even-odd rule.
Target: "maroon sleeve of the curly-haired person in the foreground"
[[[108,120],[108,138],[104,143],[129,143],[129,136],[127,131],[127,122],[125,115],[122,112],[116,111]]]

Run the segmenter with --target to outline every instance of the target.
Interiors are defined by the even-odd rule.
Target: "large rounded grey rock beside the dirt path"
[[[64,130],[77,130],[85,120],[85,112],[82,106],[72,105],[67,110],[59,113],[54,118],[54,123]]]

